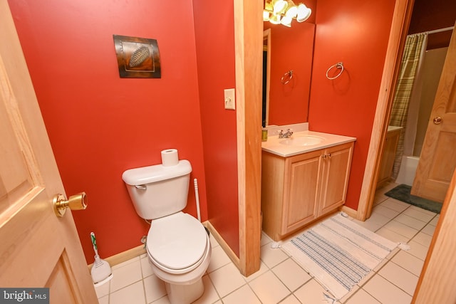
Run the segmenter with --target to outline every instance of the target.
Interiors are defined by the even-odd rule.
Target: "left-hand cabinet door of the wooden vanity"
[[[286,159],[282,234],[287,234],[316,218],[321,151]]]

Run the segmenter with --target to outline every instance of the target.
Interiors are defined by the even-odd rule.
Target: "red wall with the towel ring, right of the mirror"
[[[356,137],[346,206],[358,208],[395,1],[317,1],[309,129]],[[345,67],[336,80],[326,70]]]

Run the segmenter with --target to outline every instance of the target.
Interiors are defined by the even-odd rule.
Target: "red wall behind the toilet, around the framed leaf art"
[[[192,163],[206,220],[192,1],[9,5],[66,192],[88,195],[88,209],[73,212],[88,263],[90,231],[102,257],[140,245],[149,225],[135,213],[121,174],[159,164],[166,148],[177,148],[180,159]],[[119,78],[113,34],[157,39],[162,78]],[[204,56],[212,60],[211,53]],[[219,125],[213,127],[219,135]],[[196,216],[192,187],[185,211]]]

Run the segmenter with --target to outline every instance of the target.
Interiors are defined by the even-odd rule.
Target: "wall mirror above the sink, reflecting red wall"
[[[262,125],[307,122],[315,24],[264,22]]]

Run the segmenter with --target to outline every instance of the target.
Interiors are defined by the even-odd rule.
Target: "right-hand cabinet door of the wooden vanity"
[[[330,147],[323,152],[321,157],[323,177],[318,216],[345,203],[352,153],[353,142]]]

